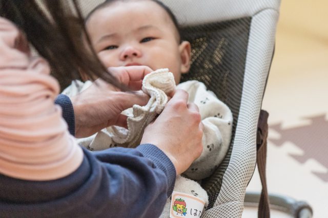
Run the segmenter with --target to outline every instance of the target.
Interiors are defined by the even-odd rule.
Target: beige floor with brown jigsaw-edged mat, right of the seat
[[[282,1],[262,106],[270,112],[269,192],[307,201],[317,218],[328,217],[327,10],[326,0]],[[321,127],[326,134],[317,134],[325,132]],[[247,190],[260,189],[256,173]],[[245,208],[247,217],[257,217],[256,210]],[[289,216],[273,212],[272,217]]]

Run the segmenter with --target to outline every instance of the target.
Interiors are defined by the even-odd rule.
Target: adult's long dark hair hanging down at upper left
[[[0,0],[0,16],[23,30],[39,55],[48,60],[59,83],[79,79],[81,70],[91,79],[127,89],[97,58],[77,0]]]

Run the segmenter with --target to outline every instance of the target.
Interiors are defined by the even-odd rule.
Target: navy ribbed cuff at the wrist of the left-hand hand
[[[75,135],[74,109],[70,98],[65,94],[58,94],[55,104],[61,107],[62,116],[65,119],[71,135]]]

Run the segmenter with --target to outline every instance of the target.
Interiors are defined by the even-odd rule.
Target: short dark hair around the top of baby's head
[[[87,22],[89,20],[89,18],[99,9],[101,8],[105,8],[106,6],[110,5],[111,3],[113,2],[128,2],[128,1],[131,1],[131,0],[106,0],[105,2],[101,3],[100,5],[98,5],[97,7],[95,7],[86,17],[85,21]],[[171,11],[171,9],[166,6],[165,4],[163,4],[162,2],[158,1],[158,0],[150,0],[154,3],[156,3],[157,5],[159,5],[162,9],[164,9],[168,15],[170,16],[173,24],[174,24],[174,27],[176,28],[176,31],[178,33],[178,42],[181,42],[181,34],[180,34],[180,26],[179,26],[179,23],[175,17],[175,15],[173,14],[173,12]]]

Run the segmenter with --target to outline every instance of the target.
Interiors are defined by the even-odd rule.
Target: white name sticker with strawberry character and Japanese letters
[[[200,198],[182,192],[173,191],[170,218],[200,217],[205,202]]]

